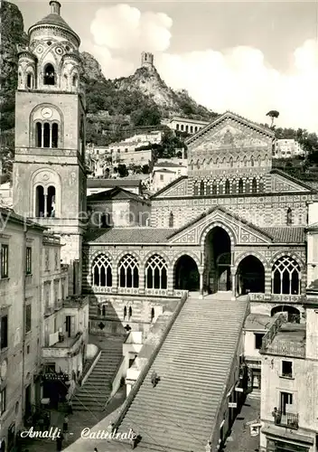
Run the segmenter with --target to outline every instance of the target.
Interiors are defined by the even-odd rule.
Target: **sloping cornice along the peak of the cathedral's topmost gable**
[[[258,139],[259,143],[255,142],[254,145],[261,146],[262,143],[267,144],[275,137],[274,132],[269,128],[262,127],[254,122],[249,121],[246,118],[242,118],[235,113],[227,111],[223,115],[221,115],[220,118],[217,118],[214,121],[210,122],[208,126],[201,128],[199,132],[192,135],[192,137],[189,137],[185,141],[185,144],[190,147],[196,146],[197,144],[199,145],[201,141],[205,140],[208,135],[213,134],[214,129],[220,130],[223,126],[227,129],[229,124],[236,124],[238,127],[246,127],[249,130],[257,132],[257,135],[259,137],[263,137],[263,139]]]

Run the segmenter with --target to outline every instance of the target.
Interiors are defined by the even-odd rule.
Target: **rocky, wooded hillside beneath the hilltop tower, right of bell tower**
[[[92,55],[82,52],[81,57],[89,142],[107,145],[126,137],[135,127],[157,126],[162,118],[173,115],[203,120],[218,116],[198,105],[185,90],[169,88],[154,67],[141,67],[128,77],[107,80]]]

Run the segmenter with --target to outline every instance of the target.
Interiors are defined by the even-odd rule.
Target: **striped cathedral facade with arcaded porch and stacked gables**
[[[137,304],[184,290],[231,291],[248,296],[252,312],[284,311],[301,322],[306,227],[318,194],[272,169],[273,140],[271,130],[231,112],[190,137],[189,174],[154,194],[149,226],[88,234],[83,287],[98,303],[113,299],[119,323],[120,296]],[[151,319],[153,307],[136,323]]]

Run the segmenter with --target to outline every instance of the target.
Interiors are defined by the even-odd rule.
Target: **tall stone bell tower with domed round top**
[[[86,212],[85,96],[79,36],[51,13],[19,49],[15,96],[14,211],[61,235],[63,263],[79,268]],[[79,283],[80,286],[80,283]],[[78,287],[80,290],[80,287]]]

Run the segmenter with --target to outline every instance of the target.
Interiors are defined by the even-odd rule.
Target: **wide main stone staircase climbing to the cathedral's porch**
[[[228,293],[189,297],[118,431],[133,428],[138,447],[155,451],[205,450],[247,309]],[[153,372],[161,379],[155,388]]]

